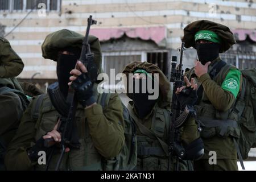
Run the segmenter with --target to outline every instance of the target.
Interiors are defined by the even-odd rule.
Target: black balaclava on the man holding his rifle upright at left
[[[63,51],[68,51],[69,55],[60,53],[57,59],[57,78],[59,82],[60,92],[64,97],[68,95],[68,82],[72,69],[75,68],[76,61],[80,57],[81,49],[79,48],[65,48]]]

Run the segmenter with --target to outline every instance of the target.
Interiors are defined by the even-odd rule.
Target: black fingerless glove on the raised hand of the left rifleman
[[[76,80],[72,81],[71,87],[75,90],[77,100],[83,107],[92,105],[96,102],[92,88],[93,84],[87,73],[82,73]]]

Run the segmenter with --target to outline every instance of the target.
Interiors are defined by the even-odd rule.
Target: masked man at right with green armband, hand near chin
[[[241,72],[219,56],[236,40],[228,27],[199,20],[184,28],[182,41],[185,47],[194,47],[199,58],[195,67],[187,72],[188,80],[195,78],[199,85],[195,107],[204,125],[200,135],[204,140],[205,154],[195,162],[195,169],[237,170],[236,138],[239,130],[237,118],[230,111],[240,90]]]

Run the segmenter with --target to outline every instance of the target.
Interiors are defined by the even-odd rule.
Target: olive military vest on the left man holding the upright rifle
[[[44,97],[42,97],[44,96]],[[51,100],[47,95],[41,95],[36,100],[42,99],[39,106],[38,118],[35,125],[35,140],[51,131],[56,125],[60,115],[57,113]],[[36,101],[33,102],[32,108],[36,108]],[[31,114],[36,114],[31,111]],[[36,118],[31,115],[32,118]],[[81,144],[80,149],[73,149],[64,154],[63,160],[60,165],[60,170],[102,170],[102,156],[98,153],[94,147],[92,138],[89,134],[89,126],[84,114],[84,108],[79,105],[76,110],[75,122],[77,126],[77,134],[79,136],[79,142]],[[57,160],[59,159],[60,148],[56,148],[53,151],[51,162],[49,163],[48,170],[54,170]],[[45,170],[46,165],[36,164],[35,170]]]

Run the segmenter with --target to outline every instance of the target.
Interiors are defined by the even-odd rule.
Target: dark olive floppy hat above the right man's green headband
[[[229,27],[209,20],[197,20],[184,28],[184,36],[181,38],[181,41],[185,43],[186,48],[195,48],[195,34],[200,30],[213,31],[218,35],[222,40],[220,43],[220,53],[227,51],[233,44],[236,44],[234,34],[230,31]]]

